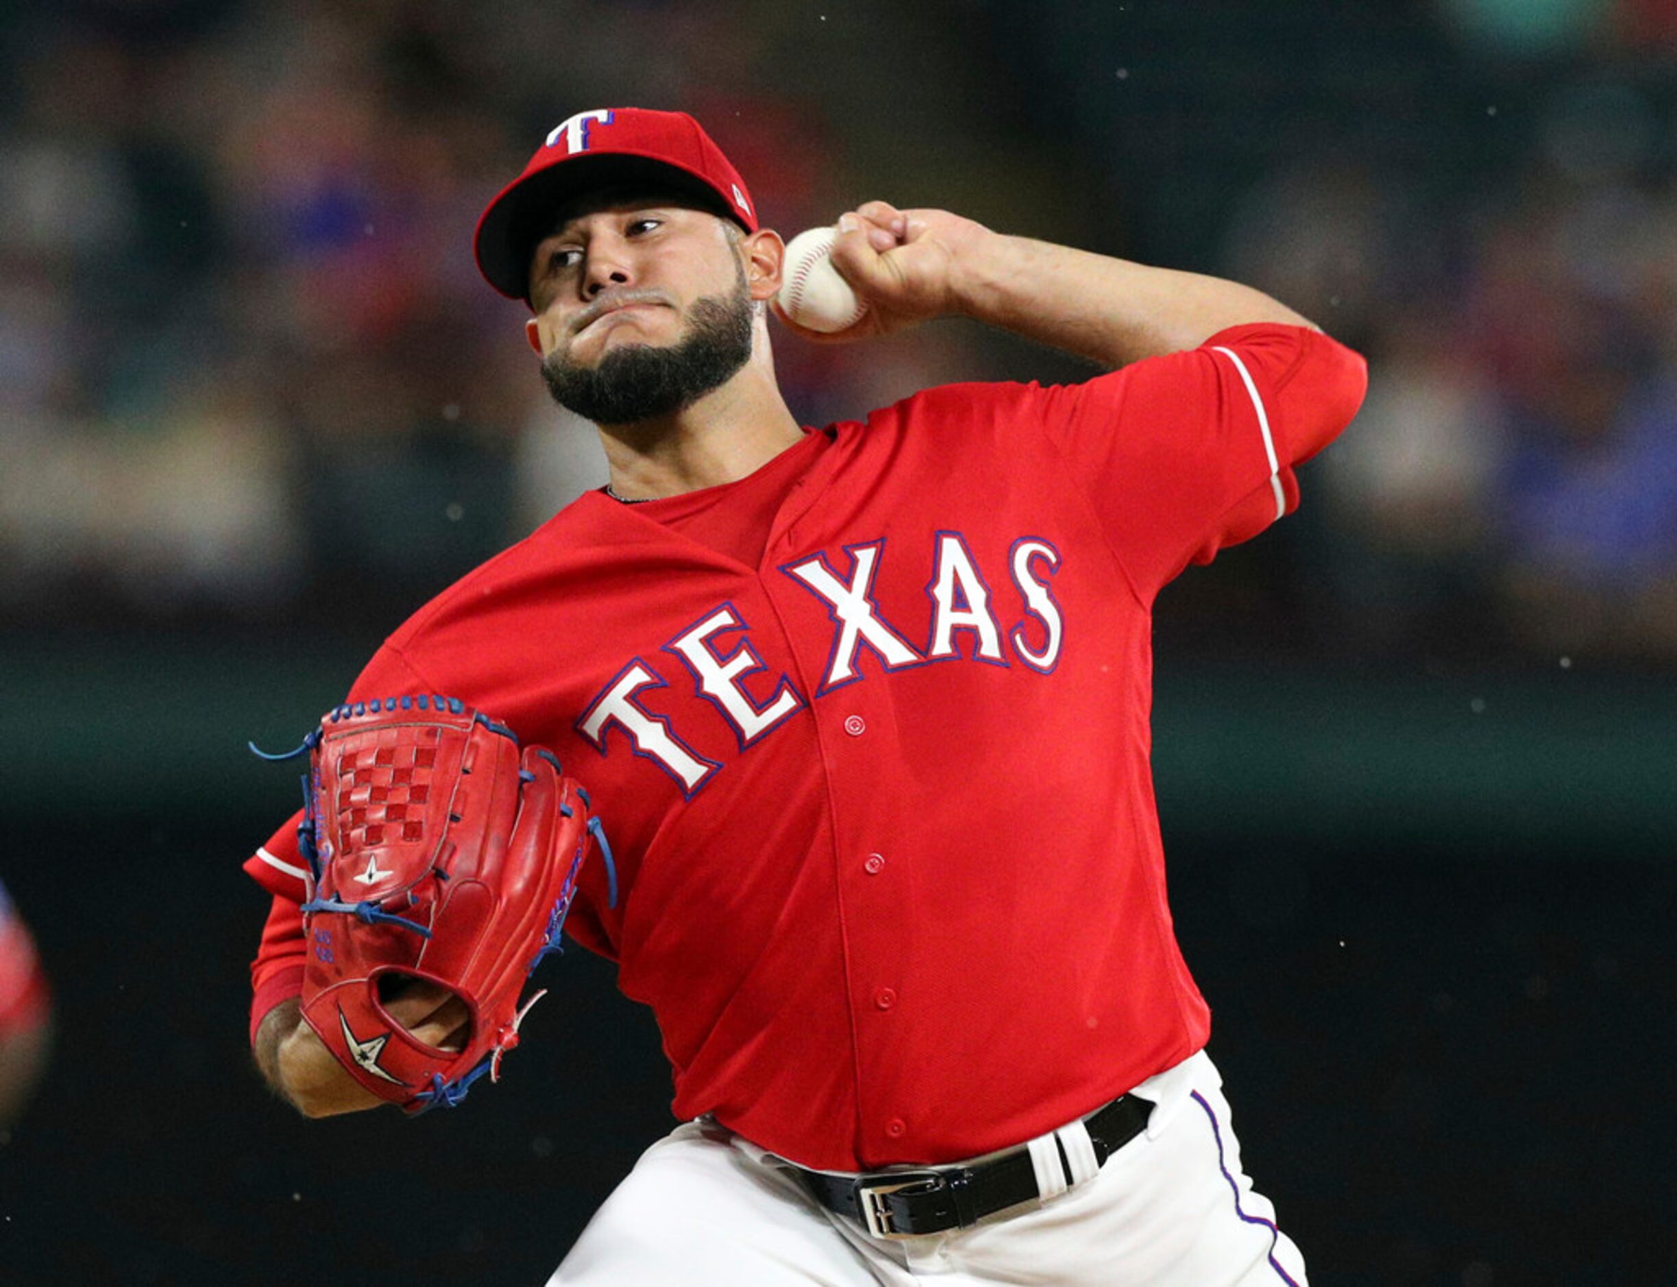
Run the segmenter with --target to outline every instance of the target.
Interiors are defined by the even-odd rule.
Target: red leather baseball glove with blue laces
[[[459,701],[404,696],[329,711],[309,735],[309,958],[302,1015],[367,1091],[409,1112],[500,1077],[543,995],[525,980],[560,945],[595,842],[587,792],[540,747]],[[411,980],[466,1008],[459,1049],[431,1045],[384,1002]]]

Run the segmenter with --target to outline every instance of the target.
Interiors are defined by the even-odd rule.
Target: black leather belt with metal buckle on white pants
[[[1083,1118],[1095,1165],[1130,1143],[1147,1126],[1152,1102],[1132,1094],[1119,1096]],[[1072,1168],[1060,1151],[1067,1183]],[[986,1215],[1041,1196],[1031,1151],[1021,1144],[976,1166],[929,1166],[921,1171],[879,1171],[875,1175],[823,1175],[793,1168],[815,1200],[838,1215],[859,1220],[875,1238],[907,1238],[968,1228]]]

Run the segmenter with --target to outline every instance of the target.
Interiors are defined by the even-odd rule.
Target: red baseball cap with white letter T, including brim
[[[652,180],[756,232],[756,210],[723,149],[686,112],[600,107],[553,128],[523,173],[478,218],[478,270],[506,299],[528,300],[530,255],[557,206],[589,188]]]

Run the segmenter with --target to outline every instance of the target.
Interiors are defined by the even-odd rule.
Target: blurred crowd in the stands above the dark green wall
[[[600,483],[470,238],[555,121],[636,102],[704,119],[788,233],[944,205],[1370,356],[1301,517],[1172,643],[1229,646],[1192,623],[1234,606],[1310,654],[1677,658],[1677,8],[862,8],[889,35],[766,0],[12,7],[0,612],[389,616]],[[1080,374],[961,326],[778,351],[810,423]]]

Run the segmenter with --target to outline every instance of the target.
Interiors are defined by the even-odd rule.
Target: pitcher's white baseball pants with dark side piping
[[[721,1126],[684,1123],[642,1154],[548,1287],[1305,1287],[1298,1247],[1241,1171],[1221,1084],[1201,1052],[1135,1087],[1157,1104],[1147,1129],[1093,1175],[906,1240],[820,1206]],[[1093,1161],[1082,1123],[1055,1134]]]

